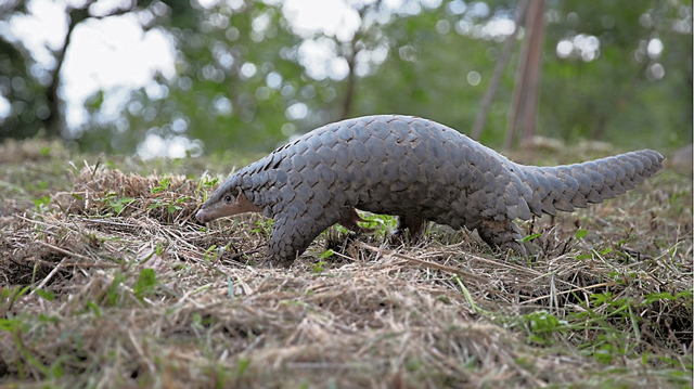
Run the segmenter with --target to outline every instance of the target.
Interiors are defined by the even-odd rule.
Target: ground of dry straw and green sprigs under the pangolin
[[[566,153],[514,157],[606,154]],[[692,387],[691,178],[522,224],[532,260],[438,225],[393,247],[374,217],[287,270],[258,216],[191,222],[231,159],[0,146],[0,386]]]

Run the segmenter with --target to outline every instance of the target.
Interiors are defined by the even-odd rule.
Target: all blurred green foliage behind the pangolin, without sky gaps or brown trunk
[[[26,12],[24,1],[0,5],[0,23]],[[90,4],[68,9],[70,25],[82,16],[107,17],[93,14]],[[338,37],[296,30],[278,1],[124,3],[113,12],[138,12],[143,28],[162,28],[172,38],[177,74],[158,75],[132,92],[115,120],[101,118],[105,93],[95,93],[86,104],[90,121],[80,143],[119,153],[150,140],[187,140],[194,154],[202,147],[267,151],[332,120],[383,113],[424,116],[468,132],[514,30],[516,1],[390,4],[356,1],[359,26]],[[538,133],[624,147],[691,142],[691,11],[685,0],[629,7],[548,1]],[[517,39],[526,34],[520,30]],[[0,93],[12,102],[1,130],[29,135],[62,112],[54,102],[61,95],[59,63],[68,49],[56,51],[56,66],[36,76],[40,72],[20,40],[0,33]],[[309,49],[322,50],[320,64],[307,60]],[[503,139],[518,55],[512,53],[491,102],[485,143]]]

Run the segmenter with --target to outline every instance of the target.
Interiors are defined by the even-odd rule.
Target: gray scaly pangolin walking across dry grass
[[[323,230],[359,231],[355,209],[477,230],[491,247],[525,255],[512,222],[571,212],[633,189],[661,167],[643,150],[557,167],[515,164],[435,121],[397,115],[326,125],[231,176],[196,215],[201,223],[248,211],[274,219],[270,259],[290,264]]]

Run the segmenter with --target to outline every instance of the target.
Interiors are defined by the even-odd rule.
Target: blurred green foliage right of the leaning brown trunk
[[[548,15],[542,132],[622,145],[691,143],[691,1],[561,5]]]

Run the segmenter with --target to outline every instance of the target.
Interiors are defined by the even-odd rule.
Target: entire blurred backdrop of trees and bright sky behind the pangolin
[[[0,141],[268,152],[399,113],[492,147],[672,150],[692,108],[691,1],[0,1]]]

